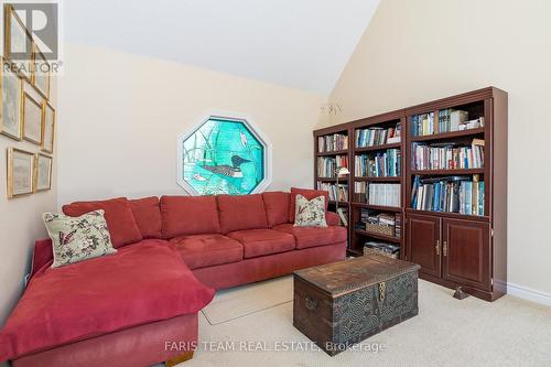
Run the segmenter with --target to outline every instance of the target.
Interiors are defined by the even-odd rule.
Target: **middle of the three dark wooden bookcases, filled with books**
[[[388,247],[400,249],[403,247],[401,203],[404,179],[402,161],[404,125],[406,118],[402,110],[352,122],[350,133],[354,142],[350,151],[349,248],[353,253],[363,255],[366,242],[387,244]],[[383,134],[383,137],[377,139],[378,137],[372,137],[374,133],[375,136]],[[380,194],[372,196],[392,196],[395,203],[374,202],[375,197],[369,197],[371,186],[371,193]],[[390,228],[390,233],[378,231],[380,228],[377,227],[377,223],[380,218],[387,220],[386,227]]]

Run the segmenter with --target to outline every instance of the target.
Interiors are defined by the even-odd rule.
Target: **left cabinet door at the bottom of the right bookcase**
[[[408,261],[419,263],[426,274],[441,277],[440,218],[411,214],[407,226]]]

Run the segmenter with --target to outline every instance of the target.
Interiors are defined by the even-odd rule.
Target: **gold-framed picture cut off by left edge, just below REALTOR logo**
[[[1,58],[0,58],[1,60]],[[1,60],[0,71],[0,133],[15,140],[23,139],[22,128],[22,102],[23,102],[23,79],[15,73],[10,72],[9,66]]]

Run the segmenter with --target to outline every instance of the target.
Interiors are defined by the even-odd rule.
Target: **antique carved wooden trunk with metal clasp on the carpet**
[[[334,356],[418,314],[419,268],[369,255],[295,271],[293,325]]]

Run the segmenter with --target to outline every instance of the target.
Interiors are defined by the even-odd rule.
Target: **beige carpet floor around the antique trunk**
[[[247,287],[236,292],[244,303],[262,296],[273,302],[273,284],[251,285],[253,296],[247,294]],[[281,295],[280,305],[276,302],[271,307],[261,302],[255,307],[238,305],[233,291],[222,293],[215,302],[228,300],[228,305],[241,311],[228,307],[227,316],[222,307],[213,311],[218,321],[233,319],[217,325],[199,314],[203,343],[195,357],[181,366],[551,366],[551,307],[512,296],[494,303],[472,296],[457,301],[447,289],[424,281],[419,285],[418,316],[365,341],[364,350],[336,357],[303,350],[310,341],[292,325],[292,302],[284,303],[292,288]],[[258,304],[264,310],[258,311]],[[257,312],[245,315],[247,310]],[[236,314],[240,316],[234,319]],[[298,350],[274,350],[291,343]],[[379,345],[379,352],[368,350]]]

